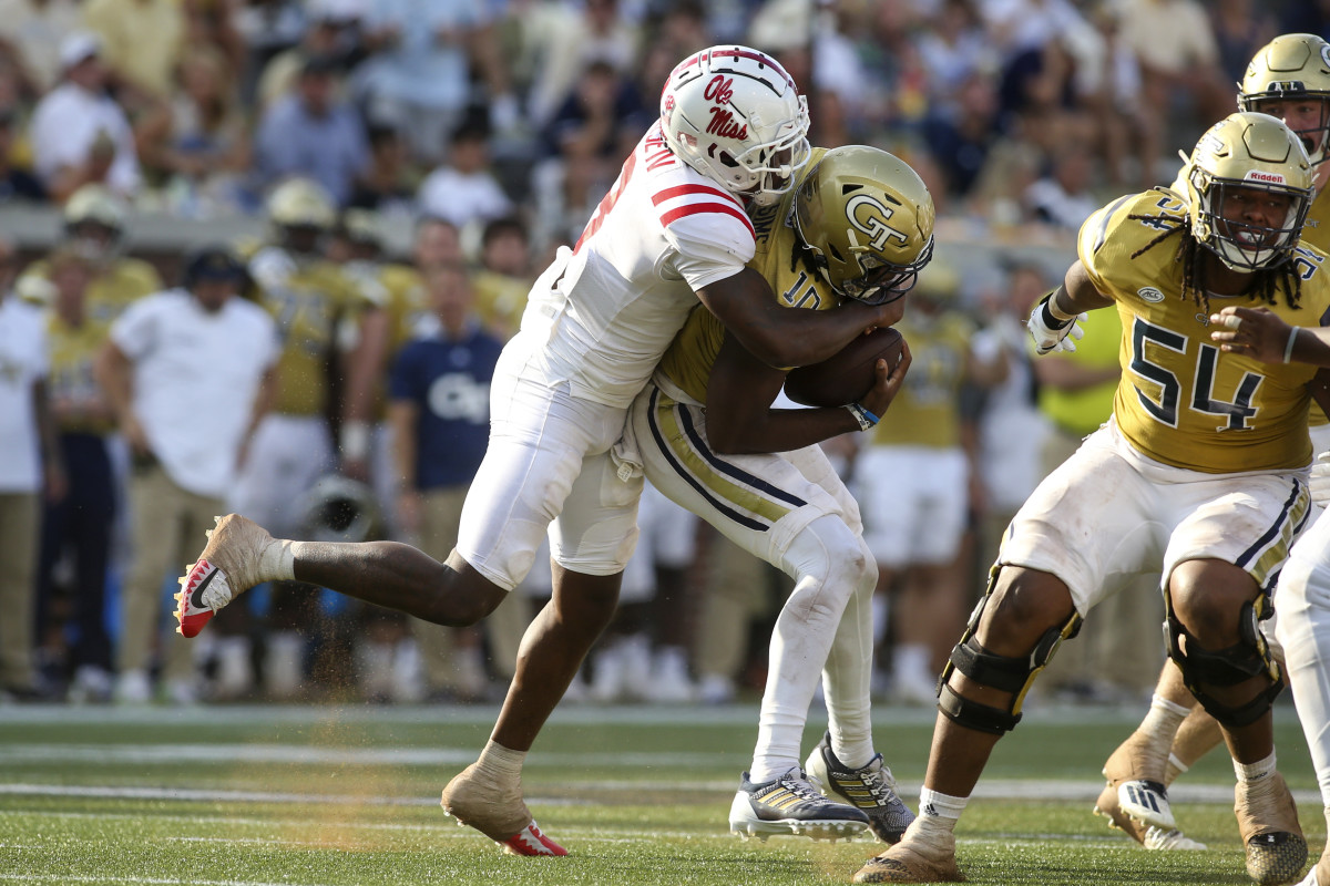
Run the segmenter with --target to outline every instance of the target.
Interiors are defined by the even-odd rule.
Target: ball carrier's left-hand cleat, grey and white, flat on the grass
[[[759,785],[749,781],[745,772],[730,804],[730,832],[743,840],[757,837],[766,842],[773,834],[793,834],[835,842],[867,828],[868,816],[823,797],[798,766]]]

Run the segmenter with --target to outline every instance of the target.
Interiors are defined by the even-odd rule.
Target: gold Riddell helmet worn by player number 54
[[[1286,195],[1278,226],[1225,218],[1234,191]],[[1311,161],[1302,139],[1277,117],[1253,112],[1229,114],[1196,143],[1188,167],[1186,195],[1192,236],[1234,271],[1257,271],[1289,258],[1302,235],[1314,198]]]

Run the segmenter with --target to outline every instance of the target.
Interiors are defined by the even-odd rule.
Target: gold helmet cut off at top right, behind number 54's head
[[[1238,108],[1271,113],[1270,102],[1306,100],[1319,106],[1317,122],[1293,129],[1313,162],[1330,158],[1330,44],[1311,33],[1275,37],[1252,58],[1238,84]]]

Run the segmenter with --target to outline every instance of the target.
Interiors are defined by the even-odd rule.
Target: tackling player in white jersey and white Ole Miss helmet
[[[548,530],[549,604],[524,638],[480,760],[444,789],[459,821],[519,854],[565,854],[521,800],[521,765],[588,648],[613,615],[637,537],[641,478],[614,444],[628,406],[690,308],[713,311],[761,360],[817,363],[899,304],[786,311],[761,274],[750,207],[807,163],[807,105],[769,56],[704,49],[676,66],[661,116],[625,161],[573,248],[536,280],[491,387],[491,434],[456,547],[444,563],[392,542],[273,539],[227,515],[182,579],[181,630],[197,634],[234,594],[277,578],[342,591],[428,622],[488,615],[531,569]]]

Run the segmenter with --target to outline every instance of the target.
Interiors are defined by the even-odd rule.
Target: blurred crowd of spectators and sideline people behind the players
[[[5,521],[32,514],[29,547],[0,546],[0,697],[495,697],[531,600],[549,594],[540,569],[483,632],[265,587],[190,644],[169,632],[169,574],[202,547],[194,514],[214,505],[278,535],[447,554],[497,345],[689,52],[733,40],[775,54],[810,98],[813,143],[907,159],[940,235],[1068,244],[1109,198],[1170,181],[1176,150],[1232,110],[1246,61],[1285,32],[1330,37],[1330,3],[0,0],[0,214],[39,202],[64,221],[40,255],[0,243],[0,345],[17,335],[15,304],[41,317],[55,433],[45,473],[0,470],[0,535],[13,542]],[[265,232],[148,262],[133,238],[145,214],[253,217]],[[390,243],[394,224],[408,248]],[[1107,417],[1117,379],[1113,331],[1087,336],[1107,353],[1032,363],[1024,316],[1061,268],[996,270],[971,279],[939,259],[924,272],[903,325],[914,368],[892,406],[919,418],[829,444],[879,559],[878,691],[896,700],[932,703],[998,533]],[[126,429],[116,402],[148,359],[144,320],[124,315],[178,283],[265,304],[281,341],[279,391],[235,405],[255,425],[234,478],[202,491],[170,458],[148,458],[178,444]],[[201,498],[157,523],[136,513],[180,487]],[[330,502],[350,517],[330,518]],[[721,703],[759,687],[785,576],[664,498],[648,495],[641,526],[620,618],[571,695]],[[177,546],[181,562],[158,575],[144,551]],[[31,573],[11,566],[24,553]],[[1157,600],[1140,600],[1123,618],[1157,624]],[[1087,635],[1051,691],[1148,695],[1161,658],[1105,669],[1121,650]]]

